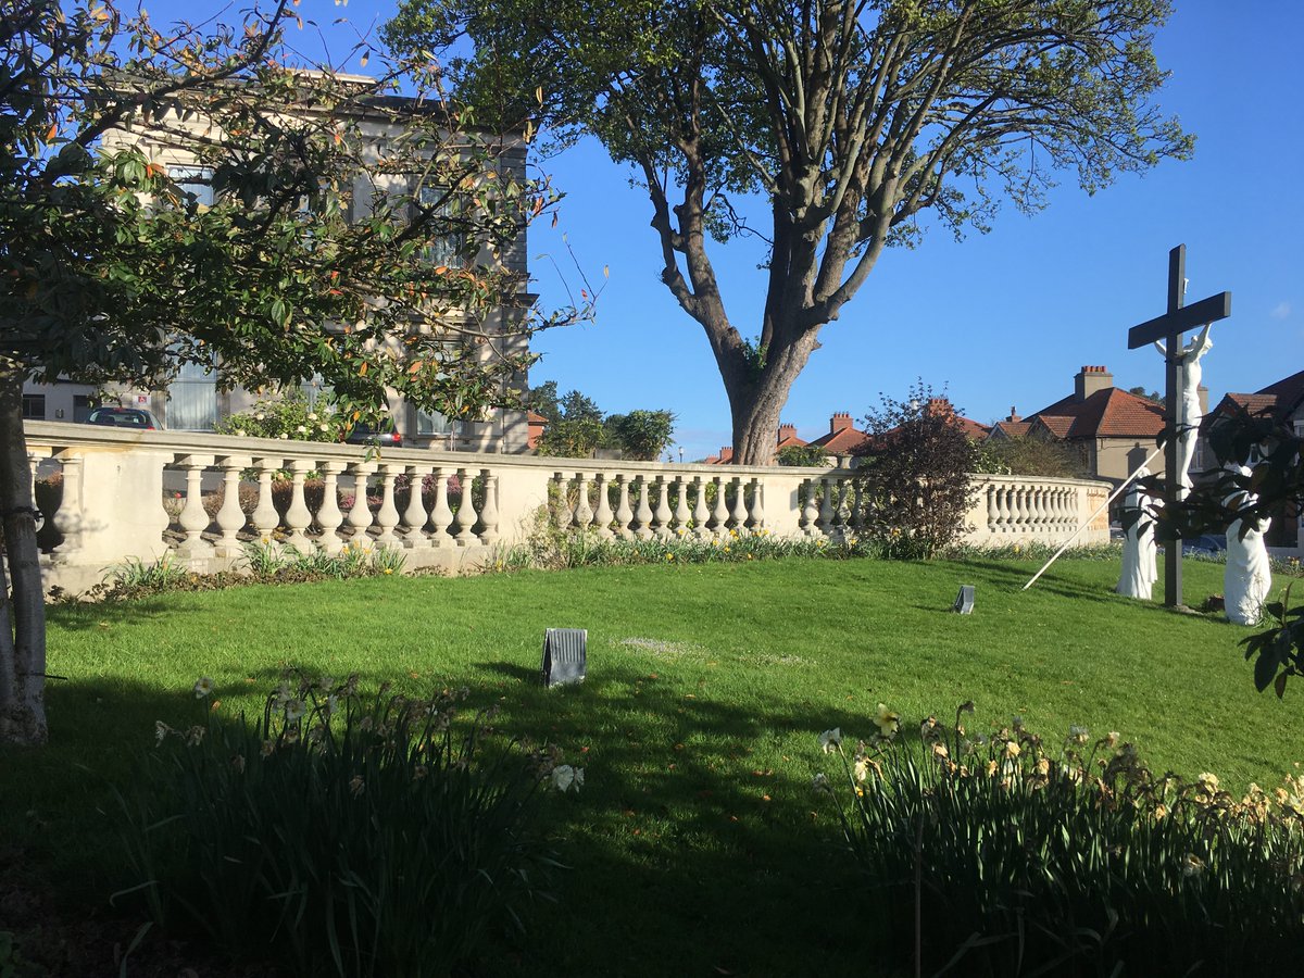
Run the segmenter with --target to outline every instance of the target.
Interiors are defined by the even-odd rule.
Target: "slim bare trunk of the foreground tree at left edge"
[[[0,363],[0,743],[44,743],[46,605],[37,546],[37,509],[22,432],[22,372]],[[8,600],[12,584],[13,600]]]

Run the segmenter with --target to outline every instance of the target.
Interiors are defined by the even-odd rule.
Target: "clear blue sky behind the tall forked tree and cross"
[[[832,412],[861,417],[880,391],[904,395],[917,377],[983,422],[1067,395],[1084,364],[1107,366],[1121,387],[1161,389],[1159,355],[1129,351],[1127,330],[1164,312],[1168,250],[1178,244],[1187,245],[1188,301],[1232,293],[1232,317],[1214,327],[1204,360],[1211,403],[1304,369],[1304,4],[1176,7],[1155,44],[1172,73],[1159,102],[1196,134],[1194,159],[1124,176],[1094,197],[1065,173],[1031,218],[1005,207],[987,235],[956,243],[934,232],[914,250],[889,250],[822,333],[784,421],[810,439],[828,430]],[[150,9],[164,20],[183,8]],[[299,13],[323,25],[346,16],[365,30],[391,9],[303,0]],[[336,56],[347,47],[339,34],[330,43]],[[717,451],[730,441],[728,400],[702,327],[657,282],[645,198],[592,142],[540,166],[567,194],[556,230],[544,222],[529,232],[541,304],[566,304],[567,288],[583,287],[579,270],[602,291],[595,322],[539,339],[544,357],[531,381],[556,379],[608,412],[668,408],[686,459]],[[734,243],[716,250],[745,335],[759,321],[759,254]]]

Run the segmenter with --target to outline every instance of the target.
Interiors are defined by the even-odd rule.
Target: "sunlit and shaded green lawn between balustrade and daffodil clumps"
[[[1239,790],[1304,760],[1291,702],[1254,691],[1249,630],[1111,593],[1118,567],[1060,561],[871,561],[595,569],[369,579],[185,593],[51,612],[51,746],[9,754],[0,833],[25,838],[69,893],[103,900],[104,781],[154,721],[193,722],[190,686],[261,709],[287,665],[400,686],[468,685],[499,728],[549,738],[587,772],[552,808],[556,906],[490,974],[863,974],[872,896],[827,799],[819,732],[871,732],[885,702],[909,730],[966,699],[977,724],[1021,713],[1048,742],[1120,732],[1157,769]],[[1222,591],[1187,563],[1185,596]],[[949,614],[977,585],[973,615]],[[588,679],[544,690],[549,626],[588,629]],[[107,868],[102,868],[106,867]]]

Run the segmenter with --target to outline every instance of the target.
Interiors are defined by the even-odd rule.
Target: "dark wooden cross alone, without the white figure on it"
[[[1187,282],[1187,246],[1178,245],[1168,252],[1168,312],[1133,326],[1128,330],[1128,349],[1136,349],[1154,343],[1166,342],[1164,349],[1164,426],[1168,434],[1167,450],[1163,454],[1166,506],[1172,506],[1181,498],[1181,480],[1178,479],[1178,438],[1181,415],[1181,370],[1178,369],[1178,355],[1181,352],[1181,334],[1196,326],[1208,326],[1231,316],[1231,292],[1219,292],[1209,299],[1201,299],[1183,306],[1183,293]],[[1168,608],[1181,604],[1181,539],[1176,537],[1168,545],[1163,562],[1163,602]]]

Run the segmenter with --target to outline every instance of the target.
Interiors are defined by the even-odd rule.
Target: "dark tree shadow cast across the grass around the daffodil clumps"
[[[831,801],[793,773],[805,758],[778,763],[793,750],[789,737],[810,754],[811,769],[825,760],[799,704],[751,712],[692,699],[638,668],[552,690],[519,664],[482,669],[505,682],[473,689],[468,707],[498,705],[501,733],[561,745],[587,782],[546,806],[569,867],[554,880],[558,902],[536,904],[524,939],[501,935],[480,973],[865,971],[872,918],[848,928],[828,913],[829,901],[850,901],[854,885]],[[214,696],[261,694],[280,677],[258,669],[253,682]],[[361,677],[373,689],[390,678]],[[126,784],[134,759],[153,748],[155,720],[202,722],[206,702],[126,681],[60,683],[48,700],[51,746],[0,754],[0,831],[69,900],[100,913],[108,893],[137,882],[112,845],[110,786]],[[853,713],[829,722],[868,725]]]

